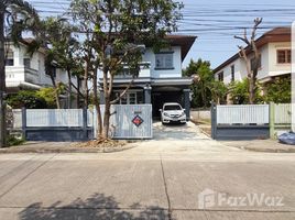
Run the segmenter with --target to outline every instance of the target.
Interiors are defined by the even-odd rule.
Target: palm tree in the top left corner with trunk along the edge
[[[1,0],[0,2],[0,147],[6,146],[6,36],[18,44],[22,31],[36,31],[37,12],[23,0]]]

